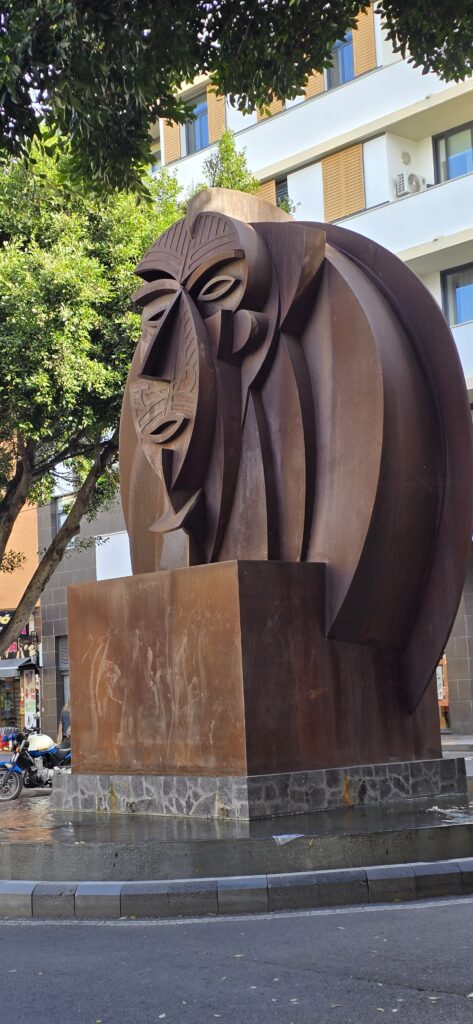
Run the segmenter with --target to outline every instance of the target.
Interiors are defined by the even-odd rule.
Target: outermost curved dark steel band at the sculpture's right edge
[[[445,648],[471,551],[473,435],[465,378],[451,334],[419,278],[382,246],[354,231],[318,224],[376,283],[408,337],[431,394],[441,453],[436,529],[423,589],[405,638],[403,669],[414,709]],[[412,435],[410,435],[412,436]],[[434,493],[431,493],[432,501]],[[405,544],[408,539],[405,540]],[[411,549],[415,547],[411,538]]]

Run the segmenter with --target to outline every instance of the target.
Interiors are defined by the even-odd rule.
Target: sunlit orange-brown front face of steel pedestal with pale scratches
[[[234,563],[69,590],[74,767],[245,774]]]

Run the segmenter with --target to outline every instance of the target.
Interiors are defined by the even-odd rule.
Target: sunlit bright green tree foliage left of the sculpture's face
[[[72,492],[0,647],[15,640],[84,515],[117,487],[118,424],[139,336],[131,302],[143,252],[184,213],[175,176],[148,179],[150,202],[78,187],[70,157],[36,142],[28,166],[0,166],[0,571],[27,502]],[[254,191],[231,132],[204,168],[207,182]],[[198,188],[205,187],[199,185]],[[66,479],[64,479],[66,476]]]

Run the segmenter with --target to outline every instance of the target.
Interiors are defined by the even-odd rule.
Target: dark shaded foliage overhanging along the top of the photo
[[[71,173],[139,186],[148,126],[188,117],[177,90],[212,76],[242,110],[292,98],[330,62],[360,0],[4,0],[0,152],[17,156],[46,124],[70,146]],[[472,70],[473,0],[380,0],[397,50],[426,72]]]

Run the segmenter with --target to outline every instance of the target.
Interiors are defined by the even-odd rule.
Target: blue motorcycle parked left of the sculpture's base
[[[0,801],[16,800],[24,785],[50,787],[55,774],[70,773],[71,748],[57,746],[37,728],[35,725],[18,733],[10,759],[0,761]]]

